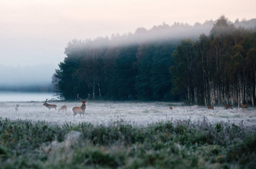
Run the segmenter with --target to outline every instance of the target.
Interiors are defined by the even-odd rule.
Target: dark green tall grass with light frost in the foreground
[[[256,127],[171,120],[146,127],[0,118],[1,168],[254,168]]]

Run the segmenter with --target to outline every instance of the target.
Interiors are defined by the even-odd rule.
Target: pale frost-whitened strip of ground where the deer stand
[[[16,104],[19,104],[18,112],[15,111]],[[49,110],[42,104],[41,102],[0,102],[0,117],[2,119],[29,119],[56,124],[86,122],[95,125],[107,125],[115,121],[124,121],[137,126],[183,119],[197,122],[207,118],[210,123],[230,122],[256,126],[256,109],[252,106],[248,109],[234,107],[226,110],[222,105],[215,105],[214,110],[212,110],[207,109],[206,106],[186,106],[183,103],[173,103],[173,110],[170,110],[171,104],[167,102],[88,101],[84,119],[83,115],[81,118],[79,114],[74,119],[72,108],[81,106],[79,101],[49,103],[56,104],[57,109],[62,105],[67,105],[67,113],[58,112],[54,109]]]

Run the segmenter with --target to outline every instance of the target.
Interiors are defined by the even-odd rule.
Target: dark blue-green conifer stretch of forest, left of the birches
[[[107,38],[97,41],[109,42]],[[77,94],[93,99],[170,99],[171,57],[177,44],[170,41],[133,45],[94,46],[95,41],[72,40],[67,57],[53,75],[55,92],[64,99]],[[98,43],[96,43],[98,44]]]

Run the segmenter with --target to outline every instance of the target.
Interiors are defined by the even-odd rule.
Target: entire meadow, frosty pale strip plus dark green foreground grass
[[[18,112],[15,105],[19,104]],[[85,118],[0,103],[2,168],[254,168],[255,108],[88,101]]]

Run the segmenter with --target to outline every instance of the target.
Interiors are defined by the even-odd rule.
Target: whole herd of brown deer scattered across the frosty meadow
[[[82,118],[82,115],[81,115],[81,114],[83,114],[83,118],[84,118],[85,109],[86,109],[85,103],[88,101],[89,97],[90,97],[90,94],[88,94],[88,98],[83,101],[83,100],[79,97],[79,94],[77,94],[77,98],[81,101],[82,105],[81,105],[81,106],[75,106],[75,107],[72,108],[72,111],[73,111],[73,118],[74,118],[74,119],[75,119],[75,117],[76,117],[76,114],[80,114],[80,117],[81,117],[81,118]],[[43,105],[46,106],[46,108],[48,108],[49,110],[51,110],[51,109],[57,110],[57,105],[55,105],[55,104],[48,104],[48,103],[47,103],[47,100],[48,100],[48,99],[46,99],[46,100],[44,101],[44,104],[43,104]],[[207,105],[207,108],[208,108],[208,109],[214,109],[214,106],[213,106],[213,105],[211,105],[211,106],[209,106],[208,104],[206,104],[206,105]],[[222,105],[223,105],[223,107],[224,107],[226,110],[229,109],[229,108],[230,108],[230,109],[233,109],[233,105],[231,105],[231,104],[224,104],[224,103],[222,103]],[[239,106],[241,106],[242,109],[244,109],[244,108],[248,109],[248,105],[246,105],[246,104],[243,105],[242,103],[240,103]],[[18,109],[19,109],[19,104],[16,104],[16,107],[15,107],[16,112],[18,112]],[[172,104],[171,104],[171,106],[169,107],[169,109],[170,109],[170,110],[173,109]],[[64,112],[64,110],[67,112],[67,106],[66,106],[66,105],[61,106],[61,107],[58,109],[58,112],[60,112],[60,111]]]

